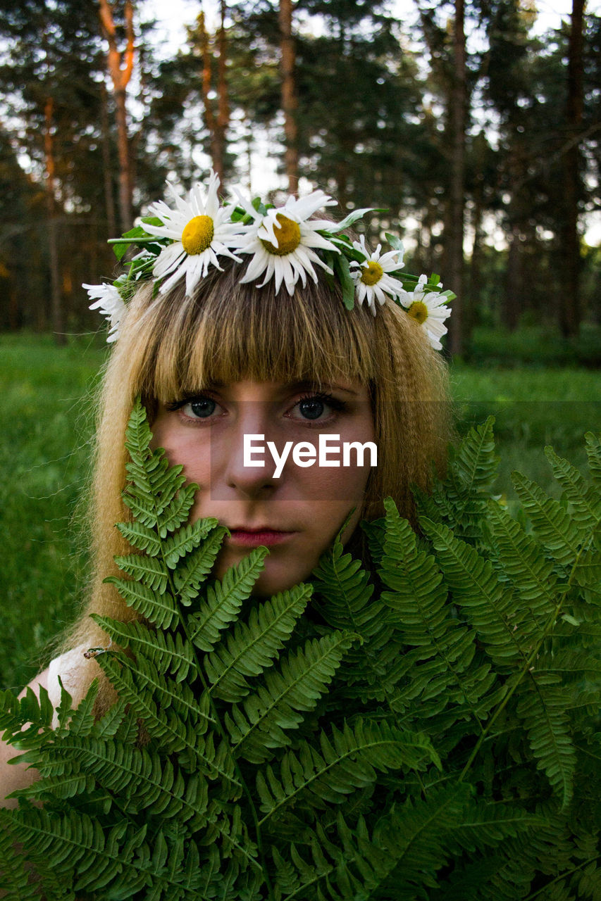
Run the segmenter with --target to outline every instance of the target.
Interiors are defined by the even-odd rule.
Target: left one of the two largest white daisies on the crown
[[[150,214],[160,219],[162,225],[144,223],[143,227],[149,234],[173,241],[163,248],[153,267],[155,278],[169,277],[162,282],[161,293],[169,291],[185,275],[186,295],[190,296],[199,279],[207,275],[211,263],[221,269],[217,255],[242,262],[230,250],[236,246],[232,239],[241,226],[229,221],[233,206],[219,205],[219,179],[215,172],[211,171],[206,196],[200,183],[191,188],[187,197],[178,194],[169,182],[168,185],[176,209],[172,210],[162,200],[151,204]]]

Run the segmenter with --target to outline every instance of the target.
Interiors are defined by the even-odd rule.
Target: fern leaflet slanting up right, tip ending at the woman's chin
[[[272,665],[291,636],[310,599],[312,587],[299,585],[253,607],[248,623],[236,623],[233,633],[204,659],[209,693],[226,701],[249,694],[247,677],[259,676]]]

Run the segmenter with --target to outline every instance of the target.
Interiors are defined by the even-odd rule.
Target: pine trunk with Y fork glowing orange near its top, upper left
[[[132,225],[132,177],[127,134],[126,88],[134,68],[134,8],[125,0],[125,34],[127,44],[123,53],[116,46],[116,25],[113,7],[108,0],[99,0],[100,22],[108,41],[108,71],[113,82],[116,105],[117,152],[119,157],[119,217],[126,232]]]

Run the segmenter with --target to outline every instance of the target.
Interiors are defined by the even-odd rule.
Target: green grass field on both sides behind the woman
[[[3,536],[0,687],[22,687],[51,657],[51,641],[85,594],[92,398],[106,350],[89,339],[56,348],[49,336],[0,335],[0,521]],[[552,489],[552,444],[582,467],[583,435],[601,429],[594,369],[453,366],[458,432],[494,414],[500,473],[512,503],[521,469]]]

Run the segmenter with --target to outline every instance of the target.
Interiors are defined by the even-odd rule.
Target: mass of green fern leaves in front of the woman
[[[550,449],[559,501],[519,473],[487,492],[492,421],[418,496],[339,540],[311,581],[254,597],[266,549],[221,579],[227,532],[140,402],[127,430],[140,620],[94,616],[119,700],[0,694],[38,770],[0,811],[0,889],[34,901],[569,901],[601,893],[601,446],[588,481]],[[307,614],[308,605],[313,611]],[[37,804],[41,803],[42,806]]]

